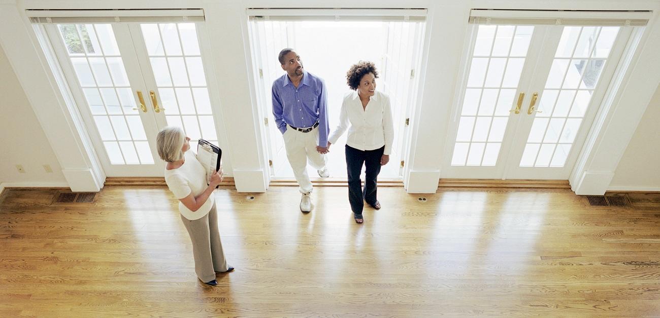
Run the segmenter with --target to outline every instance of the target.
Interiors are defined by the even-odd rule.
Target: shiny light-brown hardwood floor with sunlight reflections
[[[0,198],[0,317],[660,316],[660,195],[591,207],[564,189],[381,188],[352,221],[347,189],[217,190],[234,273],[195,277],[164,186]],[[426,198],[426,201],[421,200]]]

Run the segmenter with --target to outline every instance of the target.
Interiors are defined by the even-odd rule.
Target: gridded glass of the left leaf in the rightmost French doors
[[[533,26],[478,27],[451,166],[498,165],[533,32]]]

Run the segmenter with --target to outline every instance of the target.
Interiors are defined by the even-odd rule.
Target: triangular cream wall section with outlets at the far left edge
[[[37,120],[5,51],[0,47],[0,184],[3,186],[67,186],[46,134]],[[15,165],[23,165],[18,173]],[[46,173],[43,165],[50,165]]]

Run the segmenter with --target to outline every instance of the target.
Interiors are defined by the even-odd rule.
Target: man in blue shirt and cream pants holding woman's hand
[[[307,159],[319,176],[330,174],[326,163],[327,92],[321,78],[306,72],[300,56],[290,48],[278,57],[286,74],[273,82],[273,115],[284,138],[286,157],[300,186],[300,211],[312,211],[312,182],[307,174]]]

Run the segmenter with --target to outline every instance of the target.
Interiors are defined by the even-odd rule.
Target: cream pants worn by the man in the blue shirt
[[[286,157],[293,170],[301,193],[312,192],[312,181],[307,173],[307,159],[316,170],[321,170],[327,162],[326,155],[316,151],[319,142],[319,129],[314,128],[311,132],[300,132],[286,125],[284,132],[284,147]]]

